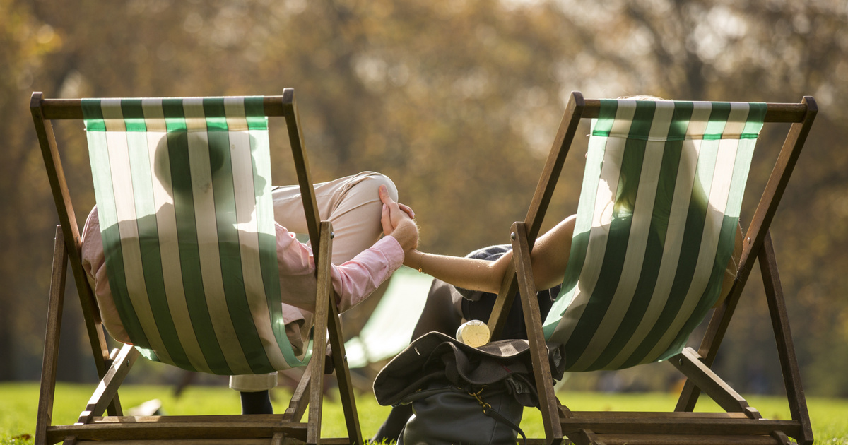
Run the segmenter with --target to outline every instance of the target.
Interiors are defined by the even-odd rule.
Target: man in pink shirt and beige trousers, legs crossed
[[[214,175],[220,169],[222,156],[220,153],[216,155],[215,146],[210,147]],[[164,164],[165,161],[159,162],[158,159],[157,163]],[[176,178],[175,172],[170,174]],[[175,193],[181,192],[178,184],[175,181]],[[404,213],[406,218],[393,219],[389,230],[385,231],[386,236],[380,239],[384,227],[380,221],[383,204],[378,189],[386,196],[397,197],[393,182],[387,176],[373,172],[315,185],[319,212],[332,222],[335,233],[331,280],[338,294],[339,312],[353,308],[388,280],[400,267],[404,253],[418,243],[418,230],[411,218],[411,209],[396,203],[393,209],[409,214]],[[273,187],[272,196],[283,318],[287,320],[288,340],[294,352],[302,358],[307,351],[315,311],[315,301],[304,301],[303,296],[315,295],[315,260],[310,246],[295,238],[295,232],[307,232],[298,186]],[[116,340],[129,342],[109,290],[96,207],[88,215],[81,239],[83,268],[98,300],[103,325]],[[313,292],[301,292],[310,290]],[[276,387],[276,381],[276,373],[233,375],[230,387],[241,393],[243,414],[270,414],[269,390]]]

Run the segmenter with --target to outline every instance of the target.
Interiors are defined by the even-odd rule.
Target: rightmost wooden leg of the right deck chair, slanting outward
[[[784,375],[784,387],[789,399],[789,413],[793,420],[801,422],[801,437],[795,437],[801,444],[812,444],[812,426],[810,413],[806,409],[806,397],[801,386],[801,370],[795,357],[795,345],[792,332],[789,331],[789,314],[786,311],[783,287],[780,285],[778,264],[774,257],[771,233],[766,234],[759,256],[762,281],[766,286],[768,312],[772,317],[774,339],[778,346],[780,370]]]

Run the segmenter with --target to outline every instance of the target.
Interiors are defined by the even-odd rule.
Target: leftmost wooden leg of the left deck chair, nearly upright
[[[68,253],[64,249],[62,226],[56,226],[53,243],[53,272],[50,275],[50,294],[47,300],[47,331],[44,334],[41,392],[38,395],[36,445],[47,442],[47,427],[53,422],[53,398],[56,392],[56,366],[59,360],[59,334],[62,330],[65,277]]]

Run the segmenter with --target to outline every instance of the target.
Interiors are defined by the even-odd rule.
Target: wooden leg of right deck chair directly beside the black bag
[[[512,225],[512,255],[513,263],[516,264],[524,324],[527,326],[527,340],[530,342],[533,375],[538,390],[539,409],[542,411],[544,435],[548,443],[561,443],[562,428],[559,409],[557,409],[554,396],[554,378],[550,372],[548,347],[544,342],[541,325],[542,315],[538,309],[533,270],[530,268],[530,249],[527,245],[526,226],[522,222],[516,222]]]

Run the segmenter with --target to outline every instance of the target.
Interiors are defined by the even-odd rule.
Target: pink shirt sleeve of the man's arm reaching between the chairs
[[[283,303],[315,311],[315,258],[312,249],[276,225],[277,262]],[[332,287],[338,310],[353,308],[371,295],[404,262],[404,251],[393,236],[385,236],[349,261],[332,265]]]

